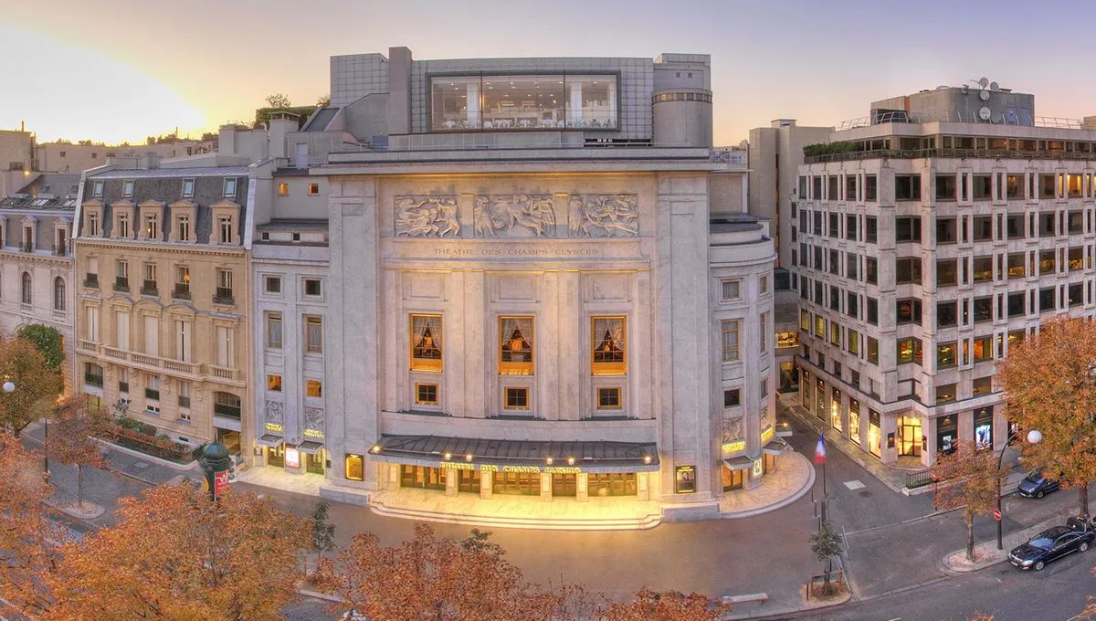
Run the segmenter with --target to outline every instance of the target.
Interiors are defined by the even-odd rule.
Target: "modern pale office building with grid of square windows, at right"
[[[1001,448],[994,361],[1092,317],[1096,127],[996,84],[871,104],[799,168],[801,400],[884,463]]]

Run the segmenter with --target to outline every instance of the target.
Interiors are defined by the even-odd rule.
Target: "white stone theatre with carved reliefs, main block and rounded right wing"
[[[393,48],[331,74],[330,127],[362,143],[309,169],[339,387],[322,494],[695,519],[762,484],[786,448],[775,253],[743,214],[745,165],[712,157],[708,56]]]

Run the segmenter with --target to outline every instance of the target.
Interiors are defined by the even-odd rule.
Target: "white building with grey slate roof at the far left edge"
[[[72,216],[80,175],[27,175],[19,192],[0,198],[0,332],[41,323],[61,334],[72,359],[76,317]],[[65,366],[69,390],[71,366]]]

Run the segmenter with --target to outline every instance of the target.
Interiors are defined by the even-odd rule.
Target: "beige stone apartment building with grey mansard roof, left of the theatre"
[[[248,166],[85,173],[76,375],[113,413],[239,451],[250,329]]]

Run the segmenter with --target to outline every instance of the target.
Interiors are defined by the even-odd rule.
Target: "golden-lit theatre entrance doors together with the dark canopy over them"
[[[347,479],[362,456],[345,456]],[[658,472],[653,444],[506,441],[385,435],[369,450],[385,488],[537,496],[650,498]],[[356,470],[354,470],[356,473]]]

